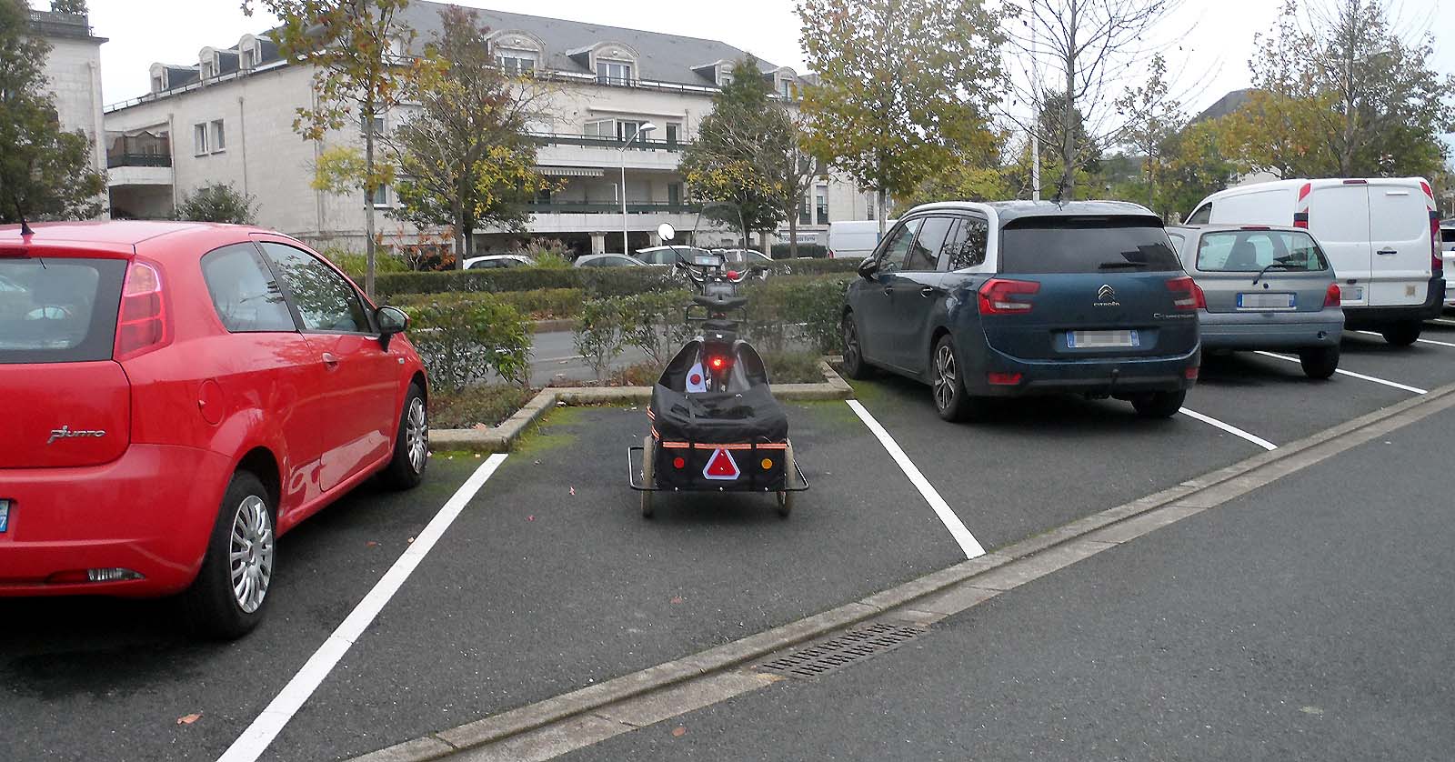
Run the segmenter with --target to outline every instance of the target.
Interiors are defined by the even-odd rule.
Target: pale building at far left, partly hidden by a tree
[[[86,132],[92,143],[92,166],[105,170],[100,45],[106,39],[92,33],[90,19],[83,13],[32,9],[31,32],[51,44],[45,57],[45,86],[52,95],[61,128]]]

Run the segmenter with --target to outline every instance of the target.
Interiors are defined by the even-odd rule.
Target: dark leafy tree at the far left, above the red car
[[[92,138],[61,128],[45,90],[51,45],[29,25],[25,0],[0,0],[0,222],[96,217],[106,175]]]

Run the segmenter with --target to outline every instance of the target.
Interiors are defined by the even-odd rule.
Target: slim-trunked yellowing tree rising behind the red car
[[[269,32],[284,58],[313,67],[313,103],[300,106],[292,127],[304,140],[358,125],[364,161],[356,185],[364,192],[364,291],[374,297],[374,195],[390,182],[375,161],[377,124],[400,103],[419,63],[404,55],[415,32],[400,13],[409,0],[243,0],[252,16],[262,7],[282,20]]]

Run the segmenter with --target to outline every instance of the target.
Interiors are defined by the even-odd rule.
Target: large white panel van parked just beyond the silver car
[[[1308,228],[1334,265],[1344,326],[1411,345],[1445,301],[1439,214],[1420,177],[1276,180],[1219,190],[1187,224]]]

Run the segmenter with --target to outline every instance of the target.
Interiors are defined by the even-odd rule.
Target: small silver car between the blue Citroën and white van
[[[1310,378],[1334,375],[1344,311],[1334,269],[1307,230],[1186,225],[1167,234],[1208,300],[1197,316],[1205,349],[1298,352]]]

